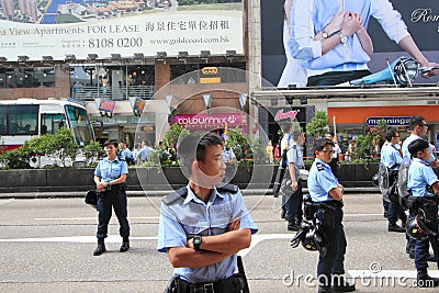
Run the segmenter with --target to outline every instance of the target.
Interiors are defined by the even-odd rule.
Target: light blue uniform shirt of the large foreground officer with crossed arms
[[[240,218],[240,228],[257,233],[258,227],[249,214],[240,191],[223,192],[214,188],[207,203],[196,198],[187,185],[187,198],[180,196],[169,205],[161,203],[160,222],[158,226],[159,252],[167,248],[187,247],[188,239],[195,235],[212,236],[227,232],[227,225],[233,219]],[[180,275],[191,283],[214,282],[230,277],[236,272],[237,255],[233,255],[217,263],[202,268],[176,268],[175,275]]]

